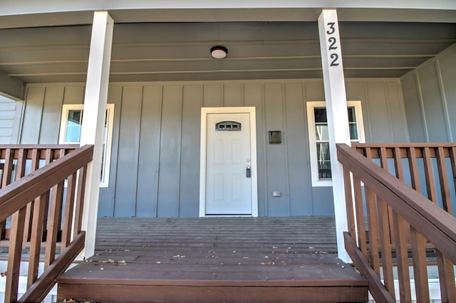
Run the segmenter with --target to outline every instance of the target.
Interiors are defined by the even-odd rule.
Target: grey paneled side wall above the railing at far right
[[[411,142],[454,142],[456,44],[404,75],[404,105]]]

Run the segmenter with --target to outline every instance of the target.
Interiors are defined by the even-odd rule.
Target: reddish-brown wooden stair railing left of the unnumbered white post
[[[9,235],[5,302],[18,301],[24,242],[28,241],[29,245],[28,288],[19,302],[40,302],[55,285],[56,277],[83,249],[86,237],[81,230],[83,199],[93,146],[75,148],[67,145],[0,147],[5,159],[1,167],[0,222],[12,216],[11,229],[3,227],[4,233]],[[40,160],[46,165],[38,168]],[[30,174],[24,176],[26,171]],[[14,174],[16,181],[9,184]],[[59,234],[61,251],[56,257]],[[41,247],[45,248],[44,272],[38,277]]]

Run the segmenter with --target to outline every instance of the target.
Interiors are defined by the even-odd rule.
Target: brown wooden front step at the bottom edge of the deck
[[[121,260],[122,261],[122,260]],[[112,263],[110,263],[112,262]],[[160,265],[85,262],[58,278],[78,302],[367,302],[349,265]]]

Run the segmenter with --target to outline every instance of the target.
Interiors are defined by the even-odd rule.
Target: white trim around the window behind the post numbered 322
[[[315,107],[326,107],[325,101],[311,101],[307,102],[307,128],[309,130],[309,152],[311,160],[311,179],[312,186],[333,186],[332,180],[319,180],[318,179],[318,157],[316,154],[316,137],[315,137]],[[358,127],[358,140],[352,140],[352,142],[365,142],[364,137],[364,123],[363,123],[363,111],[361,109],[361,101],[347,101],[347,107],[355,108],[356,125]]]

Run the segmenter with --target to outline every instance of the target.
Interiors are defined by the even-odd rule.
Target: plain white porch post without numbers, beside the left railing
[[[96,11],[93,14],[81,130],[81,146],[94,144],[93,161],[89,164],[87,171],[86,198],[83,211],[83,230],[86,230],[86,248],[83,251],[85,257],[92,256],[95,251],[103,128],[108,100],[113,25],[113,18],[109,16],[107,11]]]

